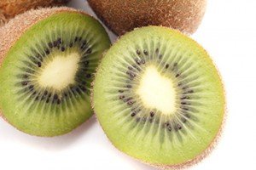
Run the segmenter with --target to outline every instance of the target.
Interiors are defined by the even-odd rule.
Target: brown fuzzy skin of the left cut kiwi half
[[[0,67],[3,63],[4,58],[9,52],[9,48],[11,48],[15,44],[15,42],[23,35],[25,31],[27,31],[31,26],[37,24],[39,21],[44,20],[53,14],[59,14],[62,12],[79,13],[90,16],[89,14],[86,14],[83,11],[79,11],[74,8],[38,8],[31,9],[24,14],[19,14],[15,16],[14,19],[9,20],[6,25],[0,27]],[[26,20],[26,22],[24,22],[24,20]],[[3,116],[1,108],[0,117],[3,117],[3,120],[8,122]]]

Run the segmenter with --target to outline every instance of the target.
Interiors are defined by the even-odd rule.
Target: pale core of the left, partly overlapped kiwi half
[[[79,69],[79,59],[80,54],[76,52],[55,54],[55,57],[47,62],[38,76],[40,86],[61,90],[73,84]]]

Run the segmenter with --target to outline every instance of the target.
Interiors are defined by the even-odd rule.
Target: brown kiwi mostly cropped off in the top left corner
[[[26,12],[32,8],[60,6],[70,0],[2,0],[0,1],[0,26],[3,26],[15,15]]]

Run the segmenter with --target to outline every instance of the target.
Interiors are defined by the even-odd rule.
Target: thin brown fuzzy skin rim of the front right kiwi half
[[[166,27],[166,26],[160,26],[160,27]],[[135,28],[134,30],[136,30],[137,28]],[[183,32],[181,31],[178,31],[176,30],[177,33],[181,33],[183,34]],[[116,42],[119,42],[119,39],[121,38],[122,36],[118,37],[118,39],[116,40]],[[195,40],[191,39],[193,42],[195,42]],[[116,43],[115,42],[115,43]],[[199,47],[201,47],[201,45],[198,43],[198,42],[195,42]],[[202,47],[201,47],[202,48]],[[204,48],[203,48],[204,49]],[[106,55],[107,52],[105,52],[104,54],[102,54],[102,58]],[[204,53],[209,56],[209,54],[207,53],[207,51],[204,49]],[[212,60],[212,59],[211,59]],[[218,71],[218,67],[217,65],[215,65],[215,63],[213,62],[212,60],[212,64],[215,66],[216,70]],[[97,72],[99,70],[99,67],[101,65],[101,62],[100,64],[98,65],[97,69],[96,69],[96,73],[95,73],[95,77],[97,75]],[[218,71],[218,76],[220,78],[220,81],[222,83],[222,88],[224,90],[224,97],[226,96],[226,91],[225,91],[225,88],[224,88],[224,82],[223,82],[223,78],[220,74],[220,72]],[[95,116],[97,116],[96,114],[96,111],[95,111],[95,105],[94,105],[94,98],[93,98],[93,87],[94,87],[94,84],[95,84],[95,79],[93,82],[91,82],[91,91],[90,91],[90,103],[91,103],[91,109],[92,111],[94,111],[95,113]],[[195,158],[189,160],[189,161],[185,161],[183,163],[180,163],[180,164],[175,164],[175,165],[161,165],[161,164],[152,164],[150,162],[147,162],[147,161],[142,161],[142,160],[139,160],[135,157],[132,157],[130,156],[132,159],[134,160],[137,160],[137,161],[141,161],[145,164],[148,164],[152,167],[156,167],[156,168],[159,168],[159,169],[164,169],[164,170],[180,170],[180,169],[187,169],[188,167],[193,167],[195,165],[197,165],[198,163],[200,163],[201,161],[203,161],[207,156],[209,156],[209,154],[212,153],[212,150],[215,149],[215,147],[217,146],[218,144],[218,141],[219,139],[221,138],[221,136],[223,135],[223,131],[224,131],[224,126],[225,126],[225,123],[226,123],[226,118],[227,118],[227,102],[226,102],[226,98],[224,99],[224,117],[223,117],[223,121],[222,121],[222,124],[218,130],[218,133],[217,135],[215,136],[215,138],[212,140],[212,143],[208,145],[207,149],[204,150],[200,155],[198,156],[195,156]],[[99,122],[99,121],[98,121]],[[102,127],[102,124],[101,122],[99,122],[99,124],[101,125]],[[102,130],[103,130],[103,127],[102,127]],[[109,139],[108,137],[108,134],[105,133],[105,135],[107,136],[108,140],[110,141],[110,143],[112,144],[111,140]],[[116,147],[115,147],[116,148]],[[117,150],[119,150],[118,148],[116,148]],[[128,154],[126,154],[125,152],[123,152],[122,150],[119,150],[120,152],[124,153],[126,156],[129,156]]]

